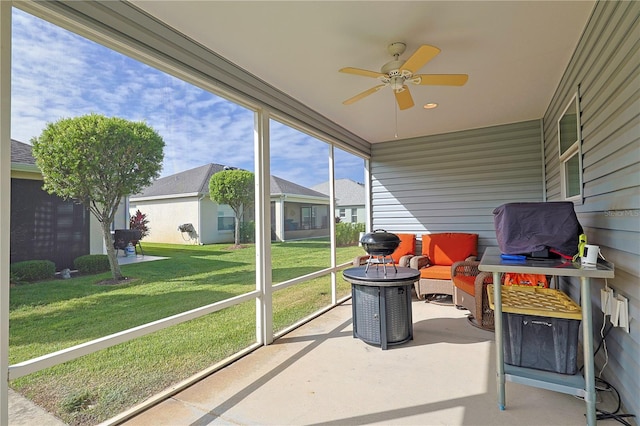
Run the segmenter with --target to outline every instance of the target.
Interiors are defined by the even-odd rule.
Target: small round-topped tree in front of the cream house
[[[246,170],[230,169],[215,173],[209,180],[209,197],[218,204],[228,204],[235,214],[235,245],[240,245],[240,222],[253,206],[254,176]]]

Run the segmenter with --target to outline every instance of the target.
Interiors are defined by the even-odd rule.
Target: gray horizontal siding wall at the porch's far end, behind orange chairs
[[[479,234],[496,246],[493,209],[542,201],[541,121],[373,145],[373,229]]]

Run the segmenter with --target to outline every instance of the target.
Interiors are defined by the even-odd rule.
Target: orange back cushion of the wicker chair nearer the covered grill
[[[428,256],[433,265],[451,266],[454,262],[478,255],[478,234],[423,234],[422,255]]]

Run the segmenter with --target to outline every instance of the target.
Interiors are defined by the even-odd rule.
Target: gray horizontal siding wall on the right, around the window
[[[576,203],[589,243],[615,264],[609,281],[629,299],[631,333],[607,336],[602,377],[618,390],[627,413],[640,415],[640,2],[598,2],[544,116],[549,201],[561,200],[557,121],[580,87],[584,200]],[[592,280],[595,341],[600,341],[603,280]],[[594,285],[595,284],[595,285]],[[579,297],[577,281],[563,289]],[[599,368],[604,353],[597,355]]]

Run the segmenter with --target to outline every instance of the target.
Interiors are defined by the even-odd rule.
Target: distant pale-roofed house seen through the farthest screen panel
[[[352,179],[336,179],[336,213],[343,223],[367,223],[365,210],[364,184]],[[311,187],[311,189],[329,195],[329,182]]]

